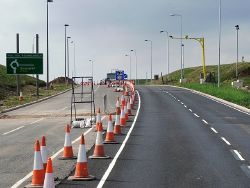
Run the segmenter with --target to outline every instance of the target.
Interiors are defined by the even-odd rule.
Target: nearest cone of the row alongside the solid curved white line
[[[68,180],[93,180],[94,176],[89,175],[88,172],[88,162],[86,156],[85,140],[83,134],[81,135],[81,141],[78,149],[77,163],[75,169],[75,175],[70,176]]]

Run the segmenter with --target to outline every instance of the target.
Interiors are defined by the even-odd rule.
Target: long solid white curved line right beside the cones
[[[109,164],[108,169],[106,170],[106,172],[105,172],[104,175],[102,176],[102,178],[101,178],[99,184],[97,185],[97,188],[102,188],[102,187],[103,187],[103,185],[104,185],[104,183],[106,182],[106,180],[107,180],[109,174],[111,173],[112,169],[114,168],[117,159],[119,158],[121,152],[123,151],[123,149],[124,149],[124,147],[125,147],[125,145],[126,145],[128,139],[129,139],[129,137],[130,137],[131,132],[132,132],[133,129],[134,129],[135,122],[136,122],[136,120],[137,120],[137,117],[138,117],[138,115],[139,115],[139,111],[140,111],[140,108],[141,108],[141,98],[140,98],[140,95],[139,95],[138,91],[136,91],[136,92],[137,92],[137,94],[138,94],[138,96],[139,96],[139,97],[138,97],[138,98],[139,98],[139,106],[138,106],[138,109],[137,109],[137,112],[136,112],[136,115],[135,115],[134,122],[133,122],[131,128],[129,129],[129,132],[128,132],[126,138],[124,139],[124,141],[123,141],[121,147],[119,148],[118,152],[116,153],[114,159],[113,159],[112,162]]]

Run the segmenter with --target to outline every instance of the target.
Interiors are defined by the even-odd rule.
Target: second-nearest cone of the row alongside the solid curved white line
[[[110,158],[109,156],[105,155],[105,153],[104,153],[102,132],[101,132],[100,127],[98,127],[98,130],[96,133],[94,153],[89,158],[90,159],[109,159]]]

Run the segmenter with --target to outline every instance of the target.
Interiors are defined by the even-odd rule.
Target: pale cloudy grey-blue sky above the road
[[[239,30],[239,57],[250,61],[250,1],[222,0],[221,64],[236,62],[236,29]],[[64,24],[69,24],[70,76],[91,76],[99,81],[114,69],[135,78],[135,50],[138,78],[150,78],[152,41],[153,75],[167,73],[167,30],[180,37],[204,37],[206,64],[218,64],[219,0],[54,0],[49,3],[49,78],[64,76]],[[31,53],[35,34],[40,37],[46,80],[46,0],[0,1],[0,64],[6,53],[16,52],[16,33],[20,35],[20,53]],[[180,69],[180,41],[170,39],[170,72]],[[75,44],[75,56],[74,47]],[[184,66],[201,66],[201,47],[184,40]],[[131,56],[131,75],[130,57]]]

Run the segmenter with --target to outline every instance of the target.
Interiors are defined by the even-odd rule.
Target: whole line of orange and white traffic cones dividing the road
[[[104,144],[117,144],[115,141],[114,135],[121,135],[121,126],[126,126],[126,121],[128,120],[128,115],[131,115],[131,109],[133,109],[133,104],[135,101],[135,96],[132,94],[130,98],[124,102],[125,97],[121,97],[121,107],[119,98],[116,102],[116,116],[115,124],[113,126],[112,115],[109,115],[108,119],[108,128],[106,133],[106,138]],[[107,159],[109,156],[105,155],[103,147],[103,138],[102,138],[102,121],[100,116],[100,109],[97,113],[97,134],[94,153],[89,158],[91,159]],[[46,139],[45,136],[42,137],[42,145],[37,140],[35,143],[34,151],[34,166],[33,166],[33,176],[32,182],[26,187],[45,187],[45,188],[54,188],[54,175],[53,175],[53,166],[51,158],[48,158],[47,148],[46,148]],[[76,159],[76,156],[73,154],[73,148],[70,138],[70,126],[66,126],[65,133],[65,142],[64,142],[64,151],[63,156],[60,157],[62,160],[67,159]],[[69,177],[69,180],[92,180],[95,179],[94,176],[89,175],[85,140],[84,135],[81,135],[78,157],[76,163],[76,169],[74,176]]]

